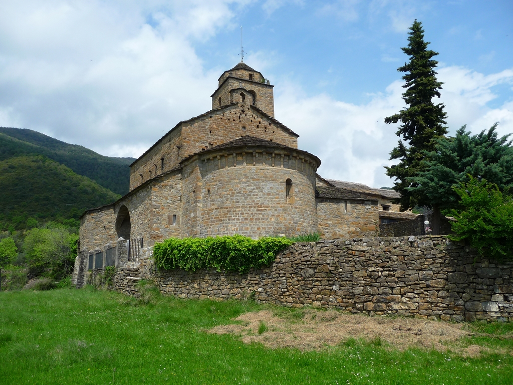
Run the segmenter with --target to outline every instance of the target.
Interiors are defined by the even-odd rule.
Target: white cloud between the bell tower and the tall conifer
[[[285,91],[276,98],[277,118],[301,135],[301,149],[321,159],[322,176],[380,187],[389,184],[383,166],[390,164],[388,153],[398,138],[396,128],[386,125],[384,118],[403,106],[400,82],[360,106],[325,94],[306,97],[291,84],[280,88]]]

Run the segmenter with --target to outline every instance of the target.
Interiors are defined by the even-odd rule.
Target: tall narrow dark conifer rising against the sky
[[[402,140],[390,152],[390,160],[399,159],[399,163],[385,168],[386,174],[396,179],[393,189],[401,193],[399,203],[403,209],[419,203],[410,188],[416,187],[411,178],[424,170],[424,151],[432,151],[434,139],[447,133],[444,105],[432,102],[434,97],[440,98],[439,90],[443,84],[437,80],[434,70],[438,62],[432,60],[438,52],[427,49],[429,42],[424,41],[422,23],[417,20],[408,35],[408,46],[401,49],[410,60],[397,69],[406,72],[403,76],[403,87],[406,88],[403,100],[407,108],[385,118],[387,124],[401,122],[396,134]]]

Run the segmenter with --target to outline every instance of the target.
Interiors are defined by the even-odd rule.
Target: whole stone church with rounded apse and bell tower
[[[130,192],[82,215],[79,252],[107,251],[120,237],[140,247],[232,234],[370,237],[381,222],[410,219],[394,213],[395,191],[319,176],[321,160],[274,119],[273,87],[245,63],[225,71],[210,111],[130,165]]]

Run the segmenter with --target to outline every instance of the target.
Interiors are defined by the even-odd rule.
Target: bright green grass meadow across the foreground
[[[1,384],[511,384],[513,357],[400,352],[351,339],[322,352],[270,350],[205,330],[262,306],[172,298],[143,304],[85,290],[0,293]],[[513,325],[472,325],[511,333]],[[265,333],[265,331],[264,331]],[[471,337],[491,351],[511,339]]]

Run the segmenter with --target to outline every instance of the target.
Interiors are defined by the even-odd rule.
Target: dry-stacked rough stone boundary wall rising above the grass
[[[296,243],[267,268],[249,274],[181,269],[157,272],[151,249],[117,269],[116,290],[153,279],[182,298],[243,298],[292,307],[336,308],[369,315],[453,321],[513,321],[513,264],[476,259],[443,237],[359,238]]]

